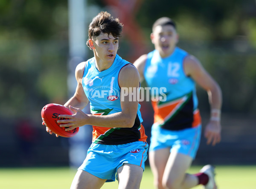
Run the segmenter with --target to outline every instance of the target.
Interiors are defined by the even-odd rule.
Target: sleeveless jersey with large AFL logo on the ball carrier
[[[82,86],[90,101],[90,112],[92,114],[108,115],[122,110],[118,76],[122,67],[127,64],[131,63],[116,55],[111,67],[99,72],[95,66],[94,57],[86,62]],[[141,137],[139,131],[141,122],[143,122],[143,119],[139,104],[133,128],[107,128],[108,130],[106,130],[105,128],[93,126],[93,142],[116,145],[138,141]],[[126,139],[124,139],[125,136]]]

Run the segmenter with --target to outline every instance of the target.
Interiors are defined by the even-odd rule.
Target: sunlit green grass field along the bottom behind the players
[[[201,167],[193,166],[189,173]],[[69,189],[75,169],[64,168],[0,168],[0,189]],[[256,166],[216,166],[218,189],[256,189]],[[116,182],[102,189],[117,189]],[[140,189],[154,189],[153,176],[146,167]],[[196,186],[195,189],[201,189]]]

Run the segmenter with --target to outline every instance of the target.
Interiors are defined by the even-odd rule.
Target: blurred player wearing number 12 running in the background
[[[154,22],[150,37],[155,49],[138,58],[134,65],[147,87],[166,88],[165,102],[152,101],[154,124],[149,162],[154,185],[157,189],[189,189],[202,184],[205,189],[215,189],[213,166],[204,166],[198,174],[186,171],[195,158],[201,137],[195,84],[209,96],[211,116],[204,136],[207,144],[212,145],[221,141],[221,89],[197,58],[176,46],[176,24],[169,17]]]

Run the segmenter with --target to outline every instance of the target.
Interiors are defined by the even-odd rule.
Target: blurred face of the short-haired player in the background
[[[161,57],[169,56],[178,42],[176,29],[171,25],[157,26],[151,34],[151,41]]]

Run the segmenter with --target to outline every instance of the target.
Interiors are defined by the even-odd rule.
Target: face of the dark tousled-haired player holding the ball
[[[118,38],[114,38],[111,34],[102,33],[93,39],[93,46],[96,59],[103,63],[113,63],[118,49]]]

